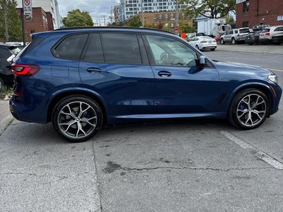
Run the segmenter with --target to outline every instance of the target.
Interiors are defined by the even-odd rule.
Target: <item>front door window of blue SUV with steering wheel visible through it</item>
[[[158,35],[146,35],[155,65],[196,66],[197,53],[178,40]]]

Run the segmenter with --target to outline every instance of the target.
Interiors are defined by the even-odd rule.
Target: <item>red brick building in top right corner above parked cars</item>
[[[283,25],[283,0],[237,0],[236,27],[259,24]]]

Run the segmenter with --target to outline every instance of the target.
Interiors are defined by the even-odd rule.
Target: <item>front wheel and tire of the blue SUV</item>
[[[269,115],[270,104],[261,90],[248,88],[237,93],[229,108],[228,120],[240,129],[255,129]]]

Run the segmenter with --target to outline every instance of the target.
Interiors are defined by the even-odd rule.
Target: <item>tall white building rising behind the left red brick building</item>
[[[17,8],[23,8],[22,0],[17,0],[17,3]],[[63,25],[57,0],[33,0],[32,6],[33,8],[42,8],[43,11],[51,13],[54,29],[58,29]]]

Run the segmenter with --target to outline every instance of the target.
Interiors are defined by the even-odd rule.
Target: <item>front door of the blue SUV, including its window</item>
[[[216,111],[219,74],[208,64],[198,66],[200,53],[177,37],[144,35],[154,83],[158,114]]]

